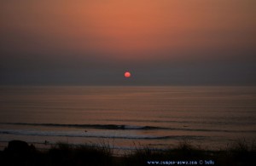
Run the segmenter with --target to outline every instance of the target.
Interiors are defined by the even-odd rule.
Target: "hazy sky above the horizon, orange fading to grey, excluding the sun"
[[[255,6],[0,0],[0,84],[256,85]]]

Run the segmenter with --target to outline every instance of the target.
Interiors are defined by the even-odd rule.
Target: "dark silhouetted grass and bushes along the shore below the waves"
[[[39,151],[26,142],[13,140],[0,152],[0,165],[255,165],[256,148],[245,141],[218,151],[207,151],[187,141],[165,151],[137,148],[121,157],[113,155],[108,146],[70,146],[58,143],[49,150]]]

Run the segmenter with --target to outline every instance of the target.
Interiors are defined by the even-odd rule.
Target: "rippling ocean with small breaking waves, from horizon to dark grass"
[[[256,140],[256,87],[0,87],[0,141],[216,149]]]

